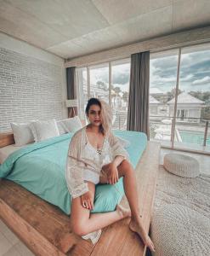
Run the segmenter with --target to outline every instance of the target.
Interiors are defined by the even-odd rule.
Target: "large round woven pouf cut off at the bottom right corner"
[[[154,212],[151,239],[155,256],[201,256],[210,252],[209,218],[179,204]]]

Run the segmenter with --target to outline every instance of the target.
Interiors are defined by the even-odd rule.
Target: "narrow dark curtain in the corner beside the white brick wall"
[[[73,100],[77,99],[77,87],[76,87],[76,67],[67,67],[66,68],[66,81],[67,81],[67,99]],[[68,108],[68,116],[71,117],[73,111],[71,108]],[[77,114],[77,108],[74,108],[75,113]],[[71,113],[71,116],[70,116]]]

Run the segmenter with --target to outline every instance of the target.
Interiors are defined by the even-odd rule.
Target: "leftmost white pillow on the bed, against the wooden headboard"
[[[15,142],[14,146],[20,147],[28,143],[34,142],[34,137],[29,126],[31,122],[19,123],[19,124],[14,122],[10,123],[14,133],[14,142]]]

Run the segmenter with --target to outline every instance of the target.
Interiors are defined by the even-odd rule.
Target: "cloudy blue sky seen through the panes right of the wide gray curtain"
[[[176,85],[178,55],[150,61],[150,86],[163,91]],[[210,50],[181,55],[179,89],[210,91]]]

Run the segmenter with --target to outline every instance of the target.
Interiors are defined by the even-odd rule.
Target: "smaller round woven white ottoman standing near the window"
[[[199,162],[186,154],[166,154],[163,166],[168,172],[181,177],[197,177],[200,174]]]

